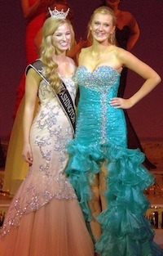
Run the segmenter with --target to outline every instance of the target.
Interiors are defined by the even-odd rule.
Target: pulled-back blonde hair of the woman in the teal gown
[[[95,9],[93,14],[90,16],[90,21],[89,21],[88,26],[87,26],[87,30],[88,30],[87,39],[90,41],[90,43],[93,42],[93,37],[92,37],[92,34],[91,34],[90,25],[92,25],[92,22],[95,18],[95,14],[97,14],[97,13],[112,16],[112,25],[116,26],[116,16],[114,14],[114,11],[112,11],[111,8],[103,6],[103,7],[99,7],[97,9]],[[110,34],[110,37],[108,38],[108,43],[110,43],[112,45],[116,44],[116,32],[115,31],[112,34]]]

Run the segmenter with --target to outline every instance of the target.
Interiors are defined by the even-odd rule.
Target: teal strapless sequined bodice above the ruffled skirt
[[[77,139],[86,144],[114,142],[126,146],[126,124],[122,110],[109,105],[117,97],[120,74],[108,65],[93,72],[80,66],[76,73],[80,88],[77,108]]]

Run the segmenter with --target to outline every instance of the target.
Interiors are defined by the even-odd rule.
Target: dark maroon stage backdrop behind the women
[[[90,14],[100,0],[69,0],[74,17],[77,39],[86,38],[86,25]],[[163,2],[162,0],[123,0],[121,9],[130,11],[139,23],[140,38],[133,53],[152,66],[163,78]],[[19,0],[0,0],[0,137],[7,137],[13,124],[15,91],[24,72],[25,20]],[[126,97],[143,83],[133,72],[129,72]],[[130,119],[141,139],[163,137],[162,83],[148,97],[129,110]]]

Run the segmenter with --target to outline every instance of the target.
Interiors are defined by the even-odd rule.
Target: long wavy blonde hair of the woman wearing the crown
[[[74,31],[73,26],[69,20],[55,19],[53,17],[50,17],[46,19],[42,27],[42,46],[40,49],[40,56],[45,67],[44,71],[46,73],[46,77],[50,80],[51,88],[53,88],[55,92],[59,92],[62,81],[59,78],[59,74],[57,71],[58,65],[52,59],[52,56],[55,53],[55,47],[52,43],[52,37],[55,31],[59,28],[59,26],[64,24],[68,24],[69,26],[71,34],[70,48],[72,48],[74,45]]]

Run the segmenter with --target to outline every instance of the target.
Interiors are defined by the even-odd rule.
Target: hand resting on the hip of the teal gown
[[[115,109],[130,109],[133,104],[130,99],[122,99],[119,97],[111,98],[109,101],[110,106],[113,106]]]

